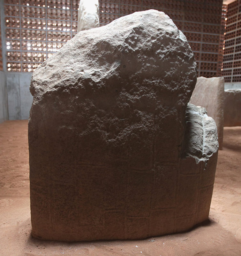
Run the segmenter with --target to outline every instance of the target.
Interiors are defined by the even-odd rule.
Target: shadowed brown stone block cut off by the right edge
[[[224,126],[241,126],[241,89],[224,91]]]

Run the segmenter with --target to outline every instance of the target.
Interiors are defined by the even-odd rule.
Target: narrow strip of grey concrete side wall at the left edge
[[[0,71],[0,123],[8,120],[8,96],[5,72]]]

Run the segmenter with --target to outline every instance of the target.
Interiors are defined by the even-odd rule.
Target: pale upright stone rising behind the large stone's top
[[[80,0],[77,31],[100,27],[99,0]]]

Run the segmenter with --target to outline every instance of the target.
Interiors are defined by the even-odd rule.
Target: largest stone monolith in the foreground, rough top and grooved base
[[[195,84],[185,36],[155,10],[81,31],[37,68],[33,236],[139,239],[207,220],[217,130],[188,105]]]

